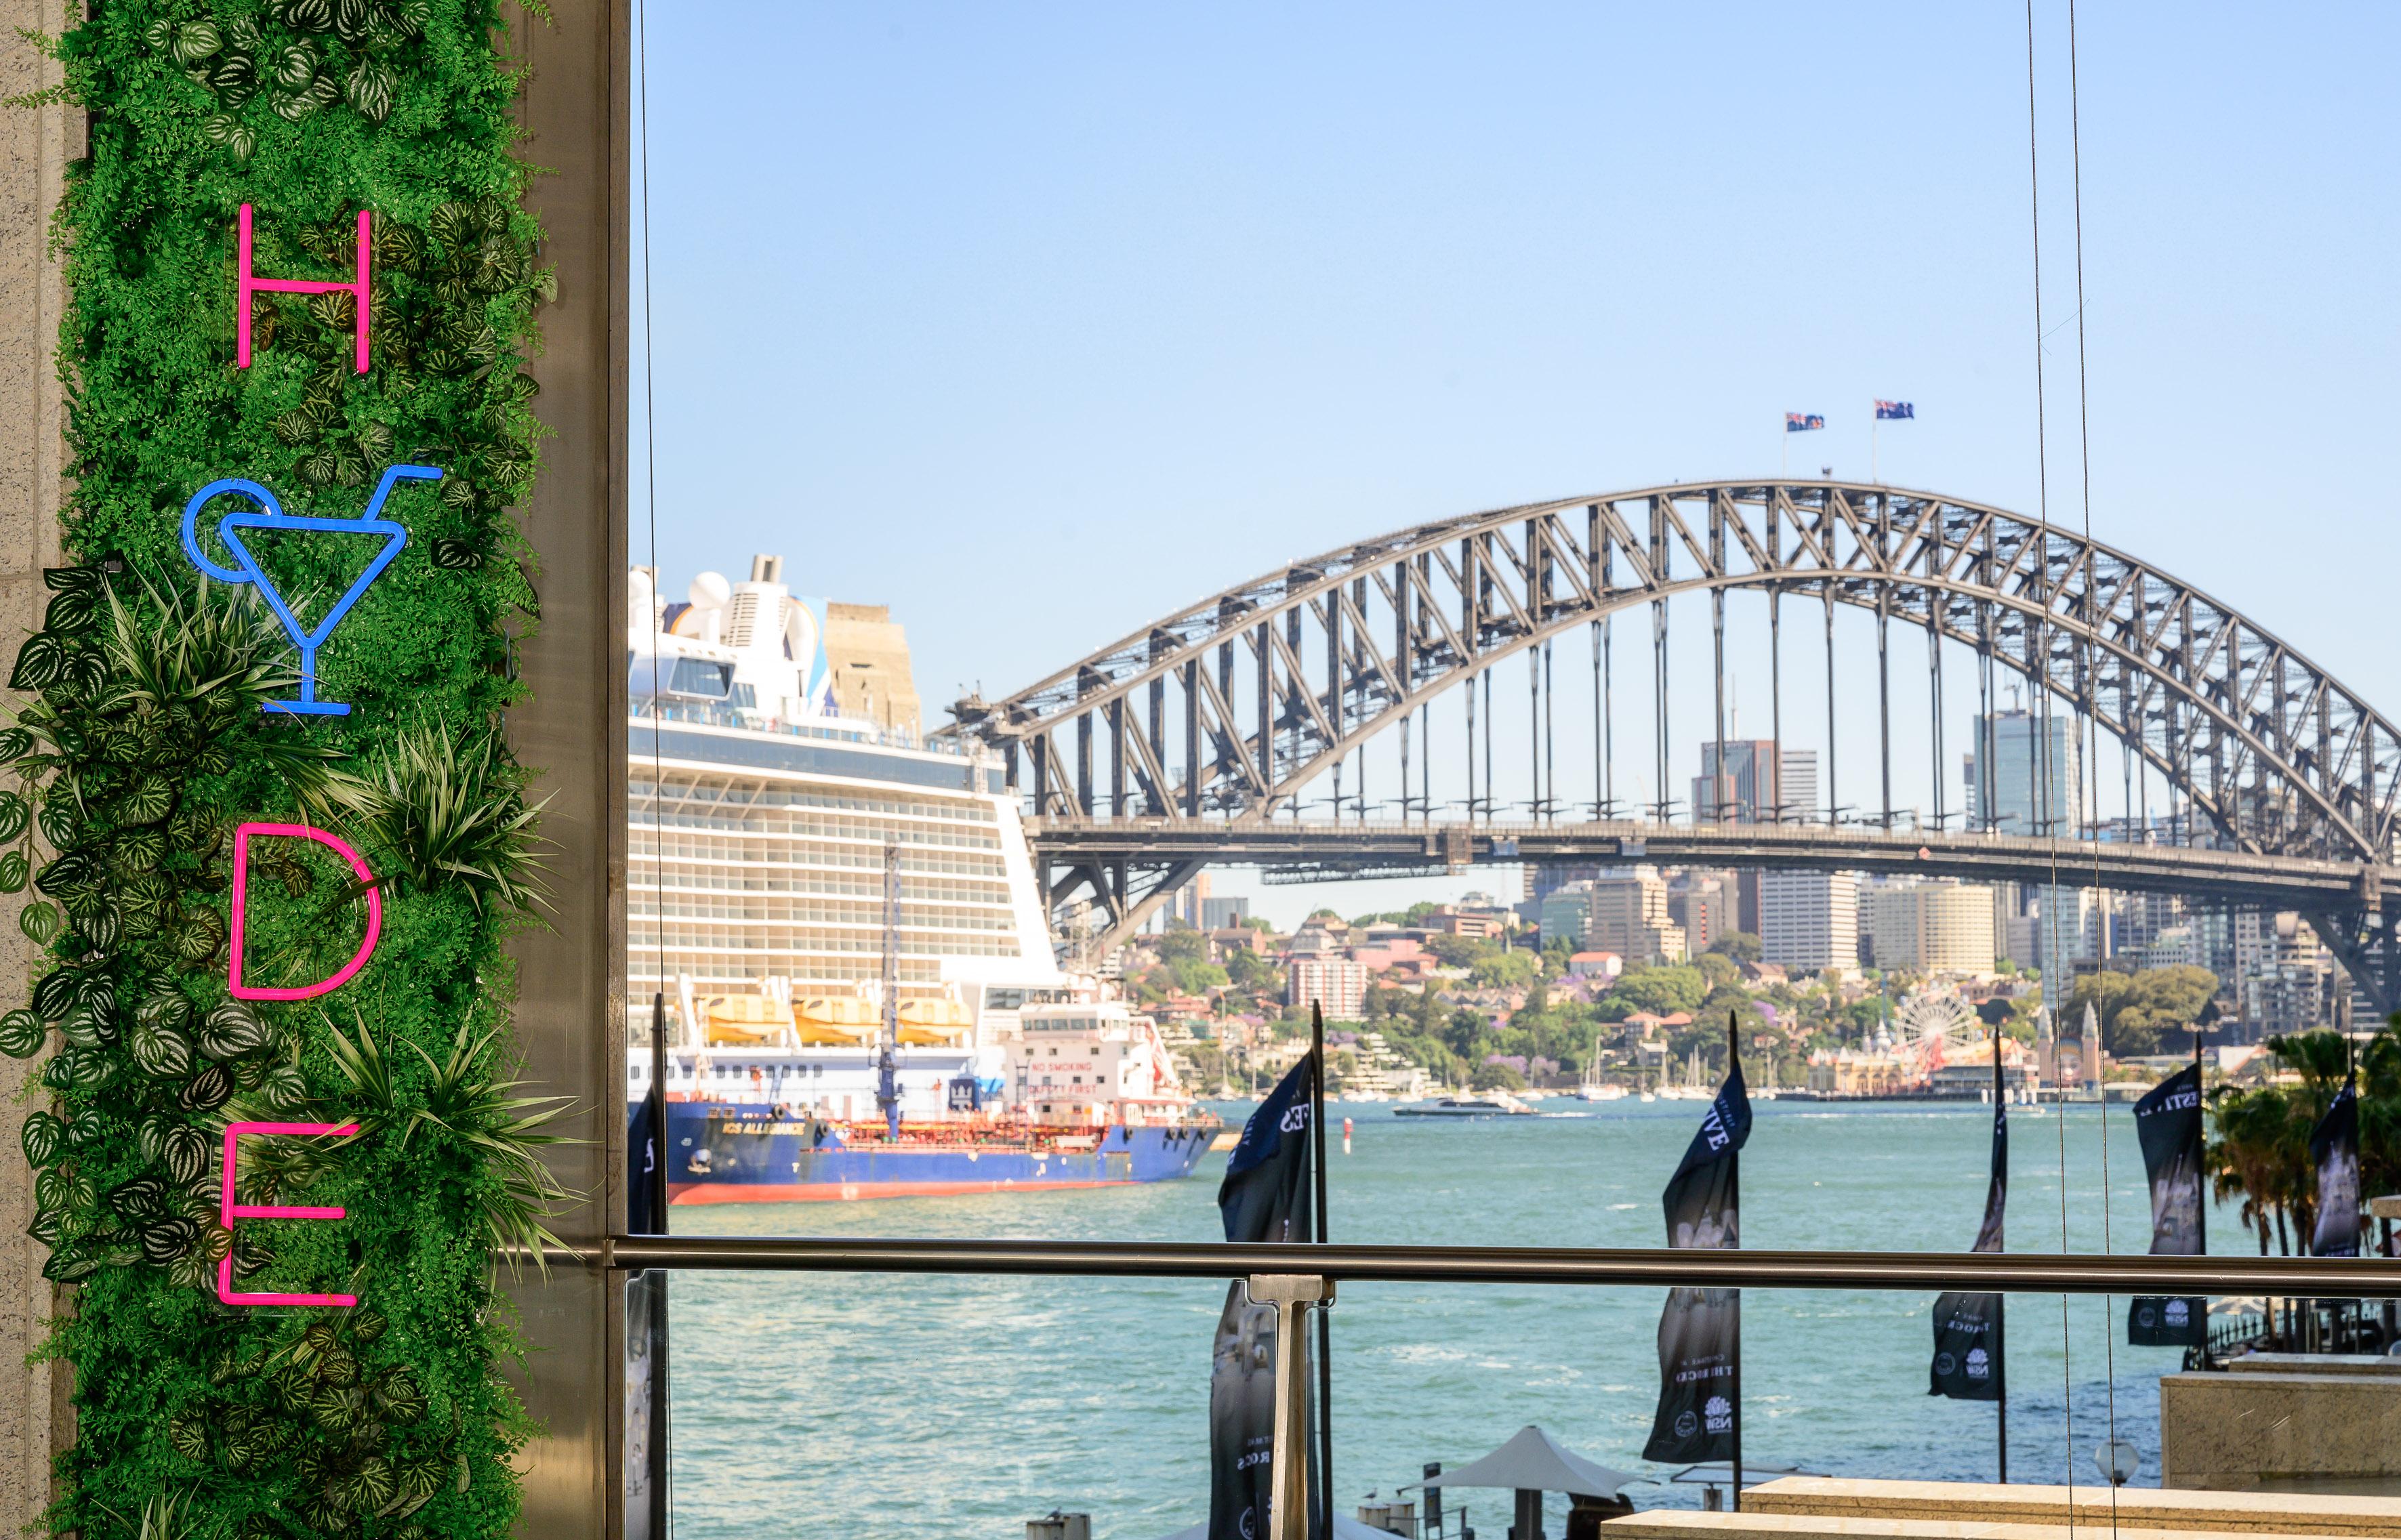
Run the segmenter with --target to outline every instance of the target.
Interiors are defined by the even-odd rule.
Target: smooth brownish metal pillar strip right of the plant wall
[[[627,154],[631,2],[550,0],[521,22],[531,67],[519,101],[523,154],[552,175],[526,201],[547,235],[559,300],[540,312],[543,473],[521,513],[540,571],[543,626],[519,657],[533,698],[509,712],[509,744],[540,768],[547,926],[511,943],[526,1077],[571,1096],[550,1151],[581,1202],[552,1228],[598,1259],[624,1228],[624,847],[627,847]],[[624,1533],[624,1276],[552,1267],[511,1286],[531,1348],[516,1377],[545,1437],[526,1473],[523,1540]]]

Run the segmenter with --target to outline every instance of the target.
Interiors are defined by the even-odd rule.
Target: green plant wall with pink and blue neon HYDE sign
[[[72,288],[72,566],[10,684],[0,888],[31,885],[38,962],[0,1048],[50,1048],[26,1118],[34,1233],[62,1295],[74,1444],[53,1528],[84,1535],[502,1535],[531,1427],[495,1250],[540,1233],[545,1108],[511,1087],[502,943],[538,900],[523,772],[499,739],[531,624],[511,509],[535,470],[540,233],[511,149],[516,74],[480,0],[108,0],[46,46],[91,122],[55,240]],[[24,103],[19,103],[24,106]],[[238,367],[238,223],[259,278],[355,278],[372,221],[370,362],[355,300],[252,300]],[[317,652],[348,715],[298,696],[262,583],[204,578],[185,506],[243,477],[288,516],[355,521],[391,465],[406,547]],[[202,554],[240,576],[216,521]],[[252,528],[305,631],[384,542]],[[257,832],[235,998],[235,832]],[[223,1223],[238,1204],[343,1209]],[[228,1305],[235,1293],[355,1305]]]

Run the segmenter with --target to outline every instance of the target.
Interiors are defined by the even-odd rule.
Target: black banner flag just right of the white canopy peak
[[[1741,1247],[1736,1156],[1750,1137],[1743,1065],[1729,1058],[1726,1084],[1700,1120],[1683,1163],[1659,1195],[1671,1247]],[[1731,1461],[1741,1449],[1743,1291],[1671,1288],[1659,1312],[1659,1413],[1642,1458],[1693,1466]]]

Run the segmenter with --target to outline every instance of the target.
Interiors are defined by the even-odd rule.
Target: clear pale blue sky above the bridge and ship
[[[658,561],[891,602],[929,705],[1421,518],[1774,470],[1784,410],[1827,415],[1796,470],[1866,475],[1909,398],[1882,480],[2038,504],[2022,7],[694,17],[651,17]],[[2065,26],[2036,7],[2079,523]],[[2401,12],[2079,29],[2094,533],[2401,712]],[[1671,736],[1690,775],[1700,715]]]

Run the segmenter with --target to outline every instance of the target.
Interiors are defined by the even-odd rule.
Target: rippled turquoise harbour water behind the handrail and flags
[[[1244,1103],[1213,1103],[1229,1123]],[[1702,1103],[1546,1101],[1544,1118],[1395,1120],[1337,1106],[1335,1240],[1661,1245],[1659,1187]],[[1743,1154],[1750,1247],[1964,1250],[1983,1207],[1990,1108],[1758,1103]],[[2106,1149],[2103,1149],[2106,1132]],[[2142,1252],[2149,1207],[2125,1106],[2012,1120],[2010,1250]],[[677,1233],[1215,1240],[1217,1175],[1023,1197],[677,1209]],[[2103,1180],[2103,1171],[2106,1178]],[[2065,1175],[2065,1216],[2062,1216]],[[2252,1250],[2228,1207],[2211,1250]],[[1217,1283],[679,1274],[675,1521],[682,1540],[845,1535],[1016,1540],[1054,1506],[1152,1540],[1208,1514],[1208,1350]],[[1527,1422],[1621,1470],[1645,1466],[1657,1288],[1345,1286],[1335,1490],[1417,1480]],[[1993,1408],[1926,1394],[1930,1295],[1743,1298],[1746,1461],[1834,1475],[1990,1480]],[[2010,1475],[2094,1485],[2108,1437],[2158,1482],[2158,1374],[2125,1300],[2017,1295],[2007,1317]],[[2113,1346],[2115,1343],[2115,1346]],[[2065,1408],[2074,1408],[2070,1432]],[[1635,1487],[1698,1506],[1698,1487]],[[1481,1535],[1505,1492],[1453,1494]],[[1551,1499],[1546,1533],[1563,1528]]]

